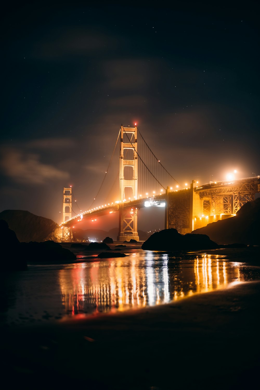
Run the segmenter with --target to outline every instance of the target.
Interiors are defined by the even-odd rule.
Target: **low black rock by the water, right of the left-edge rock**
[[[76,260],[70,250],[54,241],[21,243],[20,251],[28,264],[63,264]]]

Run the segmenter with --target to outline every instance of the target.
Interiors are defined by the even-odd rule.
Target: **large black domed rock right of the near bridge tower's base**
[[[216,249],[214,243],[205,234],[179,234],[176,229],[165,229],[155,232],[141,246],[149,250],[202,250]]]

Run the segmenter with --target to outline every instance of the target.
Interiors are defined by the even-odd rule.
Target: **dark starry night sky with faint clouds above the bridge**
[[[5,9],[1,211],[86,210],[121,123],[180,184],[260,174],[257,2],[116,4]]]

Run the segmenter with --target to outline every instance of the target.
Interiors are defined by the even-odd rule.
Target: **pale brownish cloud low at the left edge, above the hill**
[[[67,172],[41,163],[37,154],[26,154],[14,148],[2,152],[0,166],[4,174],[16,183],[45,184],[50,180],[69,177]]]

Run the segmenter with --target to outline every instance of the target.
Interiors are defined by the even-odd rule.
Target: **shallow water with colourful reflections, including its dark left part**
[[[0,318],[7,324],[60,321],[161,305],[248,280],[243,263],[221,255],[132,250],[128,257],[28,266],[2,274]]]

